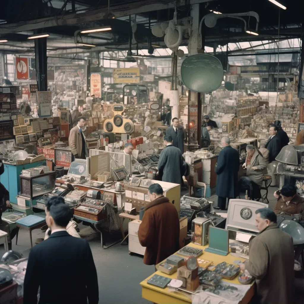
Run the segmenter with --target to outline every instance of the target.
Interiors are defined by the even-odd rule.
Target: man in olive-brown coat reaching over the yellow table
[[[249,243],[249,261],[240,264],[255,278],[257,299],[253,303],[293,303],[294,249],[292,237],[277,227],[277,216],[269,208],[255,211],[260,233]]]

